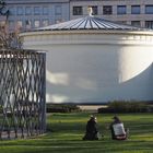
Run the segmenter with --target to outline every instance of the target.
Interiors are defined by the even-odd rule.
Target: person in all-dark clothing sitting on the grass
[[[97,120],[96,117],[91,116],[86,123],[86,132],[83,140],[98,140]]]

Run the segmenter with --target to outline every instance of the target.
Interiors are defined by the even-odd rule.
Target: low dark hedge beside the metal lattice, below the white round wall
[[[80,111],[74,104],[47,104],[47,113],[72,113]]]

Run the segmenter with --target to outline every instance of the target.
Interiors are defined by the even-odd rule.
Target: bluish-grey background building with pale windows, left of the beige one
[[[69,0],[4,0],[11,28],[36,28],[68,21]],[[3,15],[0,22],[4,22]]]

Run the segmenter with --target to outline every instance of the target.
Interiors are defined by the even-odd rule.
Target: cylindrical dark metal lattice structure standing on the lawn
[[[0,50],[0,138],[45,132],[45,52]]]

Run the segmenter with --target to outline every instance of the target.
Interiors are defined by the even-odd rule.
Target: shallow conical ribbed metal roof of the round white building
[[[72,31],[72,30],[128,30],[128,31],[140,31],[142,28],[118,24],[104,19],[95,16],[86,16],[68,22],[49,25],[46,27],[37,28],[36,31]]]

